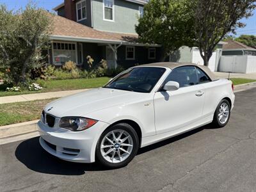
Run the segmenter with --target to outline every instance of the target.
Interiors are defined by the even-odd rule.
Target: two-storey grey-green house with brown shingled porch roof
[[[104,59],[108,67],[124,68],[159,61],[161,45],[138,42],[135,25],[143,15],[143,0],[65,0],[54,10],[49,63],[71,60],[86,65]]]

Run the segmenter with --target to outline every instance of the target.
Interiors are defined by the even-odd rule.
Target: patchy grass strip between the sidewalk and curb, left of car
[[[37,120],[44,106],[52,100],[55,99],[0,104],[0,126]]]

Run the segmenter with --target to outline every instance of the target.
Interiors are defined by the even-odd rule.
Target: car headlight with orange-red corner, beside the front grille
[[[69,129],[71,131],[83,131],[92,127],[98,121],[90,118],[66,116],[60,119],[59,127]]]

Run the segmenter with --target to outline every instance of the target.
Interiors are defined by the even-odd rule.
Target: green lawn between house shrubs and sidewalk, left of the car
[[[93,79],[65,79],[45,81],[44,88],[38,92],[5,92],[6,87],[0,85],[0,97],[9,95],[22,95],[29,93],[58,92],[63,90],[79,90],[85,88],[98,88],[109,81],[109,77],[98,77]]]

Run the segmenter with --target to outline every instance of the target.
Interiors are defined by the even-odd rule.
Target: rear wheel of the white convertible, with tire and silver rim
[[[225,110],[223,111],[223,109]],[[214,125],[214,127],[218,127],[218,128],[224,127],[225,125],[227,125],[229,118],[230,118],[230,104],[226,99],[223,99],[218,104],[214,112],[214,118],[213,118],[212,124]]]

